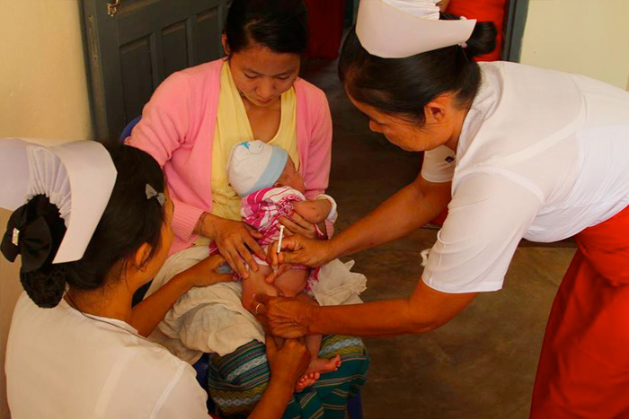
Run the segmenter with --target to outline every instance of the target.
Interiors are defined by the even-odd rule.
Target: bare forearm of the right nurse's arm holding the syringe
[[[441,214],[450,202],[451,183],[418,178],[370,214],[332,239],[335,257],[399,239]]]

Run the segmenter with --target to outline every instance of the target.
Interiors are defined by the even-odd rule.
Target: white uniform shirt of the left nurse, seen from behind
[[[123,321],[96,319],[64,300],[40,309],[22,293],[5,363],[13,419],[209,417],[189,364]]]

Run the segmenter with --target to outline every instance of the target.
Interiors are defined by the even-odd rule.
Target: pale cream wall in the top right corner
[[[521,63],[629,90],[628,0],[529,0]]]

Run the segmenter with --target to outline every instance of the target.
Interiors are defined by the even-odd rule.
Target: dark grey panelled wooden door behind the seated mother
[[[113,0],[111,0],[113,2]],[[223,55],[226,0],[83,0],[97,138],[116,142],[164,78]]]

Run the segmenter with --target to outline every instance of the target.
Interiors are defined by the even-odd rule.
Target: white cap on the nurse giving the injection
[[[462,44],[475,20],[440,21],[439,0],[360,0],[356,34],[372,56],[412,57]]]

